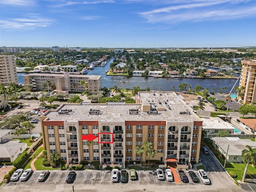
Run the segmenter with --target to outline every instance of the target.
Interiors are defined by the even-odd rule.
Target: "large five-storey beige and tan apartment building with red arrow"
[[[159,160],[170,166],[199,162],[202,120],[175,92],[139,92],[136,104],[62,104],[40,116],[44,148],[68,164],[83,160],[125,166],[148,159],[136,146],[151,142]],[[82,135],[97,138],[88,146]]]

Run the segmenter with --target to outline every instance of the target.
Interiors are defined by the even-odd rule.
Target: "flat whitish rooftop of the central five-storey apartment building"
[[[48,110],[43,116],[47,121],[167,121],[193,122],[202,121],[194,114],[184,98],[174,92],[140,92],[137,99],[142,103],[125,104],[124,102],[107,102],[106,104],[62,104],[57,110]],[[159,108],[158,114],[142,112],[142,105]],[[181,113],[182,112],[182,113]],[[98,114],[97,114],[98,113]],[[131,113],[131,114],[130,114]]]

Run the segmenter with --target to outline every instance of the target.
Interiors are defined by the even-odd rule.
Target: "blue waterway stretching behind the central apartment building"
[[[102,76],[102,87],[112,88],[113,86],[118,86],[120,88],[132,89],[135,86],[139,86],[141,89],[146,89],[150,87],[150,90],[160,90],[160,91],[172,91],[173,87],[175,90],[179,90],[179,84],[186,83],[190,84],[191,88],[196,85],[203,86],[204,88],[209,88],[209,92],[213,88],[216,89],[214,92],[218,92],[223,87],[227,89],[223,92],[230,92],[234,86],[236,79],[225,79],[225,78],[154,78],[154,77],[134,77],[134,76],[107,76],[106,70],[109,70],[110,60],[108,64],[104,67],[96,67],[93,70],[89,70],[88,75],[101,75]],[[24,84],[23,75],[27,73],[18,73],[18,82]],[[122,81],[125,81],[124,86]],[[239,80],[236,86],[239,85]]]

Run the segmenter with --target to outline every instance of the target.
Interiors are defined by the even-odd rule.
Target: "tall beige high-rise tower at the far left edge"
[[[18,84],[14,55],[0,55],[0,83],[8,85],[10,82]]]

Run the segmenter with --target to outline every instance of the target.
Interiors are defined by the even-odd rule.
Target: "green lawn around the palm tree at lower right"
[[[242,174],[244,173],[244,169],[246,167],[246,163],[227,163],[226,164],[226,170],[229,173],[230,171],[233,171],[236,173],[237,178],[233,178],[235,182],[238,184],[237,180],[242,180]],[[247,174],[256,174],[256,169],[249,164]]]

